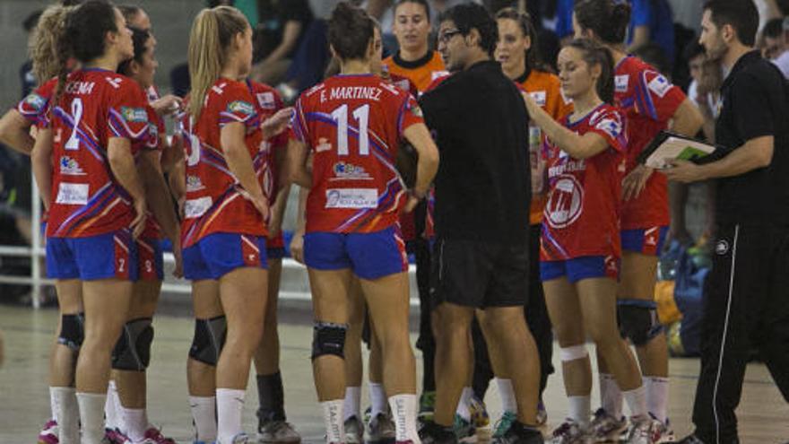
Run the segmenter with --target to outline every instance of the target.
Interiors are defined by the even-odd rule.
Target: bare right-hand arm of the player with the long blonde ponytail
[[[220,141],[225,160],[228,162],[230,172],[238,179],[244,188],[247,199],[257,208],[257,211],[268,219],[268,199],[263,194],[263,188],[257,181],[255,169],[252,166],[252,157],[247,151],[244,136],[247,127],[241,122],[233,122],[221,127]]]

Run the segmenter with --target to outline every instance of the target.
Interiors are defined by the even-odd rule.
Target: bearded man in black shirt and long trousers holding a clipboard
[[[705,5],[700,43],[729,71],[715,122],[722,160],[676,161],[667,176],[717,179],[713,269],[705,285],[696,431],[681,442],[736,443],[742,379],[753,347],[789,401],[789,90],[753,50],[751,0]]]

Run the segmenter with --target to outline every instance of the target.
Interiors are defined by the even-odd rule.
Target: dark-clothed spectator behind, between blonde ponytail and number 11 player
[[[258,0],[257,13],[252,78],[275,85],[285,78],[313,15],[307,0]]]

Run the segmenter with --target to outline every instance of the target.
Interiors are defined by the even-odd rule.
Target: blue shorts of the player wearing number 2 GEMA
[[[50,278],[136,281],[137,272],[137,246],[127,229],[87,238],[47,238]]]

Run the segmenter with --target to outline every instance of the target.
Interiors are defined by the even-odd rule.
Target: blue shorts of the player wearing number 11
[[[377,279],[408,270],[400,230],[371,233],[314,231],[304,235],[304,263],[316,270],[351,268],[362,279]]]

